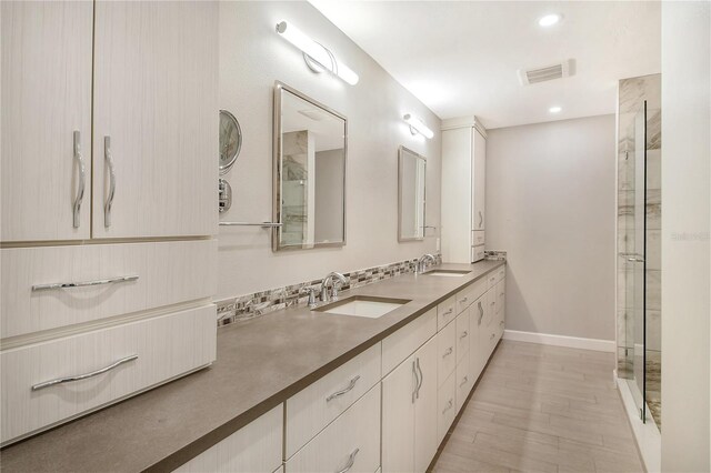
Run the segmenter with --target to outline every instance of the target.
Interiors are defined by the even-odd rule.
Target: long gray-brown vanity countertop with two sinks
[[[411,300],[379,319],[301,304],[220,328],[210,368],[10,445],[0,452],[1,467],[171,471],[502,264],[442,264],[472,272],[404,274],[341,294]]]

